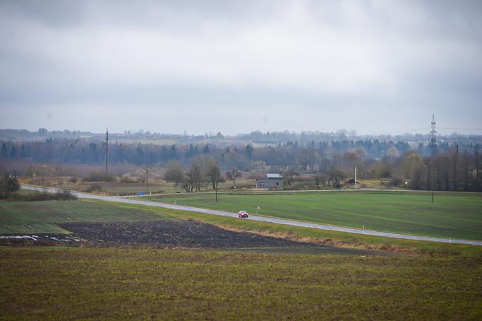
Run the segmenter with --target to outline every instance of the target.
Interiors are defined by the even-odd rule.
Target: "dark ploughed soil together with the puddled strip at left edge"
[[[218,226],[189,220],[59,223],[58,226],[69,230],[72,234],[0,235],[0,245],[199,248],[383,255],[383,252],[374,250],[320,245],[288,238],[226,230]]]

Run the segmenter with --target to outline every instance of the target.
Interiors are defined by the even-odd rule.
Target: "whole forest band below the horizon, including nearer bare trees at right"
[[[19,158],[37,163],[106,162],[106,143],[100,139],[49,138],[45,141],[0,141],[0,160]],[[428,144],[403,141],[334,140],[286,141],[253,146],[214,144],[139,144],[114,141],[109,163],[165,166],[170,161],[188,168],[199,158],[212,158],[221,170],[277,171],[311,175],[316,185],[352,176],[384,179],[413,189],[481,190],[479,144],[439,143],[431,155]]]

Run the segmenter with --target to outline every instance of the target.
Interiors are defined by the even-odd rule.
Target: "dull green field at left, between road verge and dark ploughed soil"
[[[0,234],[69,233],[55,223],[150,221],[162,219],[142,209],[85,201],[0,202]]]

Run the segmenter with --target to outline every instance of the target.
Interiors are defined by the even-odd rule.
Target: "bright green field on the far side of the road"
[[[403,192],[178,194],[157,202],[223,209],[352,228],[482,240],[482,195]],[[257,207],[260,207],[258,210]]]

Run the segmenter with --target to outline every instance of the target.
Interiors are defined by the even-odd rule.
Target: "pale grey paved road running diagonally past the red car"
[[[26,186],[22,185],[22,189],[29,189],[35,190],[40,192],[49,192],[55,193],[57,189],[45,189],[43,187],[33,187],[33,186]],[[148,201],[139,201],[137,199],[125,198],[125,197],[112,197],[112,196],[100,196],[95,194],[86,194],[86,193],[78,193],[73,192],[72,194],[76,195],[79,198],[84,199],[101,199],[102,201],[108,202],[118,202],[118,203],[126,203],[126,204],[137,204],[137,205],[144,205],[144,206],[154,206],[154,207],[162,207],[164,209],[179,209],[181,211],[191,211],[196,213],[203,213],[203,214],[211,214],[211,215],[219,215],[219,216],[228,216],[237,218],[236,213],[228,212],[228,211],[218,211],[214,209],[202,209],[199,207],[193,206],[183,206],[183,205],[174,205],[174,204],[167,204],[167,203],[158,203],[158,202],[148,202]],[[403,240],[422,240],[422,241],[430,241],[430,242],[440,242],[440,243],[454,243],[454,244],[466,244],[466,245],[479,245],[482,246],[482,241],[476,240],[457,240],[457,239],[449,239],[449,238],[430,238],[428,236],[417,236],[417,235],[406,235],[406,234],[398,234],[398,233],[388,233],[388,232],[380,232],[378,230],[359,230],[357,228],[343,228],[340,226],[331,226],[325,224],[318,224],[318,223],[305,223],[299,221],[291,221],[287,219],[281,218],[271,218],[271,217],[264,217],[264,216],[250,216],[250,220],[252,221],[261,221],[267,223],[275,223],[275,224],[283,224],[289,226],[301,226],[303,228],[317,228],[319,230],[335,230],[337,232],[344,232],[344,233],[355,233],[355,234],[362,234],[362,235],[373,235],[373,236],[382,236],[384,238],[400,238]]]

